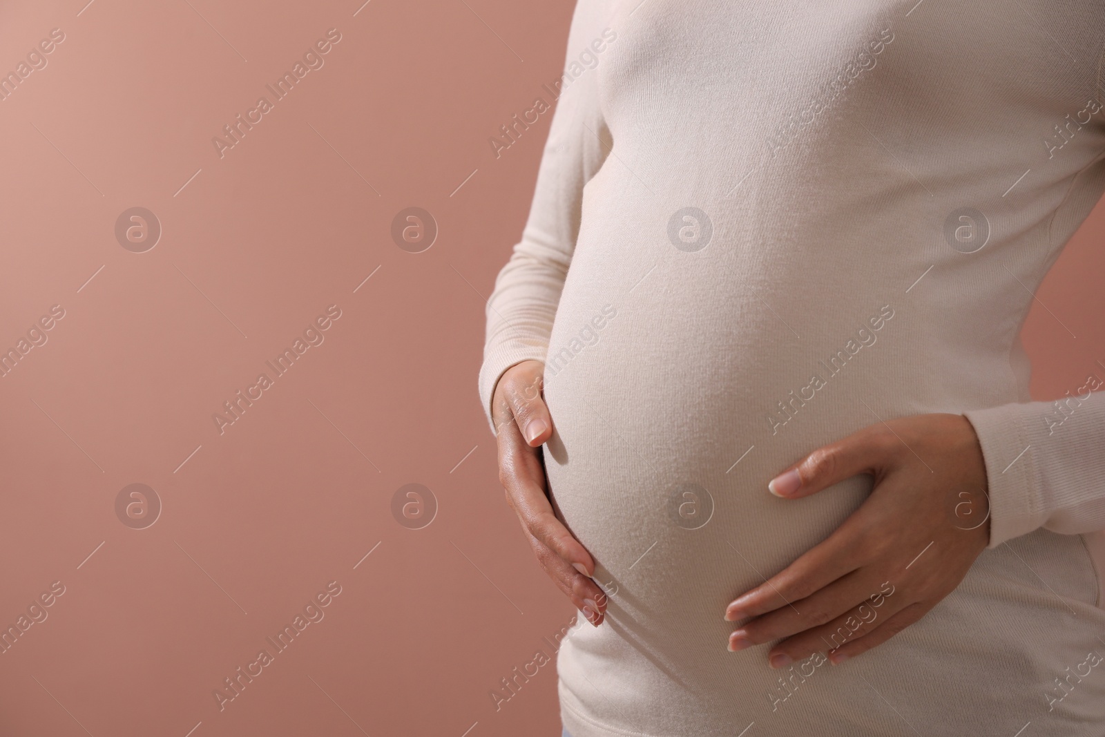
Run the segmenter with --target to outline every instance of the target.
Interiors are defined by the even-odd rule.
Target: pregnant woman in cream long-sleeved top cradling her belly
[[[1105,734],[1105,365],[1031,402],[1018,337],[1103,46],[1098,0],[579,0],[480,376],[590,622],[572,737]]]

